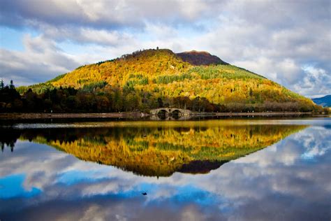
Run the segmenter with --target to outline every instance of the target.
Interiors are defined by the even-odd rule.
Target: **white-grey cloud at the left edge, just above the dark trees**
[[[0,77],[6,82],[11,79],[18,85],[29,85],[50,80],[78,66],[71,55],[43,36],[25,35],[23,44],[23,52],[0,49]]]

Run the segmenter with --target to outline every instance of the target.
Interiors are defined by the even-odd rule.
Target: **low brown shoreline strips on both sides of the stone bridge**
[[[258,113],[193,113],[190,116],[206,116],[206,117],[240,117],[240,116],[300,116],[300,115],[321,115],[330,116],[328,114],[315,114],[311,112],[258,112]],[[0,120],[34,120],[34,119],[67,119],[67,118],[140,118],[152,116],[149,113],[141,112],[124,112],[124,113],[0,113]]]

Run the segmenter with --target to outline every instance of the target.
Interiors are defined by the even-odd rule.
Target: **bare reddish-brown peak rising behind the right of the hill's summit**
[[[177,53],[176,55],[182,58],[184,62],[189,62],[193,65],[228,64],[219,57],[210,55],[208,52],[191,50],[190,52]]]

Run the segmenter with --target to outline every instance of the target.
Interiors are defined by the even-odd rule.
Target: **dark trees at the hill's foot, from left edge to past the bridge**
[[[206,98],[152,97],[148,92],[135,92],[131,88],[112,88],[98,83],[76,90],[73,87],[45,89],[40,94],[31,88],[20,95],[13,82],[0,88],[0,111],[25,113],[105,113],[153,108],[177,107],[193,111],[219,111],[221,106]]]

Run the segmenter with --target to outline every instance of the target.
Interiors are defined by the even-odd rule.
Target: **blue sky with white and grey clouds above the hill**
[[[1,0],[0,78],[31,85],[135,50],[203,50],[331,94],[331,1]]]

